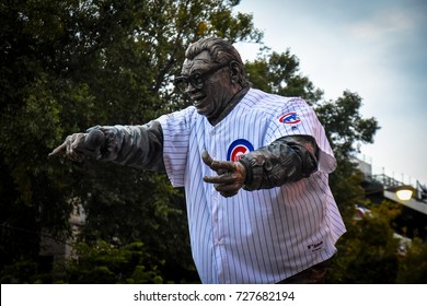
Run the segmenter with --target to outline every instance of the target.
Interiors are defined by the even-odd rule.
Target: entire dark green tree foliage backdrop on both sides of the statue
[[[328,282],[426,282],[425,244],[416,239],[404,258],[395,251],[399,209],[372,205],[382,210],[377,217],[353,220],[355,204],[369,203],[351,156],[379,128],[360,117],[362,98],[345,91],[324,101],[297,56],[263,45],[235,0],[0,3],[1,282],[199,282],[184,190],[164,175],[47,154],[91,126],[145,123],[187,106],[170,84],[186,46],[210,35],[259,44],[245,63],[254,86],[304,97],[325,126],[339,165],[331,186],[348,227]],[[69,220],[76,210],[86,215],[79,235]],[[44,237],[71,242],[76,257],[51,266],[41,256]]]

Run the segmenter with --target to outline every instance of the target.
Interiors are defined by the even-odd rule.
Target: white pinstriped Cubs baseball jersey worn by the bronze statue
[[[234,109],[211,126],[191,106],[158,119],[163,156],[175,187],[185,187],[193,258],[204,283],[276,283],[336,251],[345,226],[328,187],[335,158],[312,108],[251,89]],[[273,189],[223,198],[203,181],[215,175],[201,161],[238,160],[290,134],[310,134],[320,148],[319,170]]]

